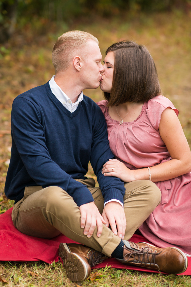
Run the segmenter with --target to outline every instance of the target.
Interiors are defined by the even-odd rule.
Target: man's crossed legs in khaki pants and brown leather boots
[[[92,193],[95,205],[102,214],[104,199],[101,190],[94,187],[92,179],[78,181],[87,185]],[[166,269],[161,270],[164,272],[169,272],[171,269],[172,273],[183,272],[187,265],[187,259],[177,249],[156,249],[148,244],[141,243],[137,245],[127,242],[159,204],[161,194],[157,186],[147,180],[125,183],[124,186],[126,189],[124,212],[127,222],[124,241],[104,224],[100,237],[97,236],[96,226],[92,236],[88,238],[84,234],[84,228],[80,227],[81,213],[79,207],[66,191],[57,186],[44,189],[39,186],[25,187],[23,199],[18,201],[13,208],[12,220],[14,226],[27,235],[53,238],[63,233],[68,238],[86,245],[87,247],[65,244],[60,247],[60,256],[63,257],[68,277],[73,281],[87,278],[90,273],[90,265],[93,265],[92,262],[99,263],[107,257],[117,257],[123,263],[126,262],[131,265],[143,265],[144,263],[146,267],[150,265],[151,268],[160,270],[166,266]],[[150,252],[149,249],[153,250]],[[164,250],[168,252],[164,254]],[[169,252],[170,254],[168,254]],[[104,257],[101,253],[107,257]],[[151,255],[154,253],[155,255]],[[90,256],[90,254],[93,256]],[[121,254],[123,254],[123,258]],[[96,256],[98,259],[96,259]],[[153,256],[155,263],[152,263]],[[166,261],[168,261],[166,257],[169,258],[170,263],[172,260],[174,261],[174,266],[171,266],[171,269],[167,266],[170,263],[166,264]],[[157,258],[160,263],[162,262],[162,265],[158,263]]]

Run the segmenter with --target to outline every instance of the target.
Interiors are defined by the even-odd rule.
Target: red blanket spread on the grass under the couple
[[[38,261],[42,260],[47,263],[52,261],[57,262],[58,247],[61,242],[74,243],[64,235],[56,236],[52,239],[42,239],[33,236],[28,236],[17,230],[11,220],[12,208],[7,210],[4,214],[0,215],[0,243],[1,253],[0,261]],[[137,242],[148,242],[149,241],[141,236],[134,234],[130,239],[135,243]],[[107,259],[95,268],[105,267],[106,264],[113,268],[119,269],[131,269],[145,272],[155,272],[147,268],[132,267],[124,265],[114,258]],[[191,257],[188,257],[188,268],[186,272],[181,275],[191,275]]]

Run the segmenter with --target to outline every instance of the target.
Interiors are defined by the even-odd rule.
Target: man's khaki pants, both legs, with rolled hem
[[[93,179],[77,180],[92,193],[95,205],[102,214],[104,199]],[[125,240],[145,221],[160,202],[160,189],[151,181],[139,180],[125,183],[124,211],[127,220]],[[14,226],[24,234],[53,238],[63,233],[70,239],[101,251],[111,257],[121,239],[103,224],[103,232],[97,237],[97,228],[91,238],[83,234],[80,227],[80,210],[73,198],[57,186],[25,187],[23,199],[15,203],[12,220]]]

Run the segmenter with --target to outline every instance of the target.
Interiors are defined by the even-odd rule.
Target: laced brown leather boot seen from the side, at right
[[[146,267],[165,273],[183,273],[188,267],[186,254],[175,247],[159,248],[146,242],[124,242],[123,259],[126,265]]]

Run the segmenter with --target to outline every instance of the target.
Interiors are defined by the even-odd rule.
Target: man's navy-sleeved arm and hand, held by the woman
[[[117,199],[123,205],[123,196],[125,195],[125,188],[123,181],[117,177],[105,177],[101,171],[103,164],[110,158],[114,158],[113,153],[109,147],[107,125],[101,109],[97,106],[94,113],[93,126],[93,141],[91,149],[90,162],[97,176],[99,186],[101,188],[104,203]],[[124,237],[126,228],[126,219],[123,207],[119,202],[109,202],[105,205],[103,211],[103,219],[106,221],[106,226],[111,225],[114,234],[120,238]],[[116,228],[117,225],[117,228]]]

